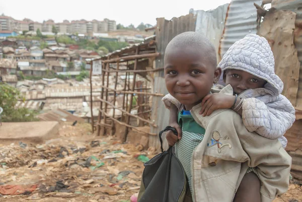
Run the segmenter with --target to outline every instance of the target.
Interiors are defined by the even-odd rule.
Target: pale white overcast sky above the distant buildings
[[[34,21],[52,19],[63,20],[103,20],[109,18],[128,26],[137,26],[141,22],[155,25],[156,18],[187,15],[189,10],[210,10],[231,0],[11,0],[0,1],[0,14],[11,16],[16,20],[29,18]]]

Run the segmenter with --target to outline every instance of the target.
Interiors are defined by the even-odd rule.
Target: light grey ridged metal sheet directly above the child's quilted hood
[[[257,33],[257,10],[254,3],[262,5],[262,0],[233,0],[230,3],[219,48],[221,58],[236,41]]]

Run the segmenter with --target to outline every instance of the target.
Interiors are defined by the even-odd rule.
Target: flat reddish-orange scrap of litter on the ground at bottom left
[[[17,195],[36,190],[38,185],[0,185],[0,193],[3,195]]]

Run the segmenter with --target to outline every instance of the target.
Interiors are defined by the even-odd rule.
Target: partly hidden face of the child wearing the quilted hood
[[[240,94],[247,89],[263,88],[266,81],[241,70],[226,70],[224,82],[231,85],[234,93]]]

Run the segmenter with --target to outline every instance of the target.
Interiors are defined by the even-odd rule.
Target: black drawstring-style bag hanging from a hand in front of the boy
[[[169,147],[167,151],[163,149],[162,133],[168,130],[177,135],[176,129],[171,126],[160,132],[162,153],[144,163],[138,202],[184,201],[187,189],[185,171],[173,154],[173,147]]]

